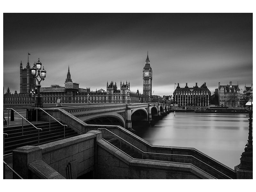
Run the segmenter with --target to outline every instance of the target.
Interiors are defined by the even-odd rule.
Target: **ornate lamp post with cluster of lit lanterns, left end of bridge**
[[[46,77],[46,71],[42,68],[42,63],[40,62],[39,58],[38,61],[34,64],[34,66],[30,69],[31,70],[31,74],[33,76],[33,78],[36,79],[36,87],[37,87],[37,95],[36,95],[36,106],[35,107],[39,107],[42,108],[43,107],[43,103],[41,100],[41,95],[40,95],[40,87],[41,87],[41,81],[44,81],[44,78]],[[36,74],[37,72],[37,74]],[[41,72],[41,74],[40,74]]]

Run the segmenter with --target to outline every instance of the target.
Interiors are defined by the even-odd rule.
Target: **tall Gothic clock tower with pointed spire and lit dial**
[[[145,61],[145,66],[143,68],[143,100],[144,102],[148,103],[151,102],[149,100],[152,96],[152,68],[150,67],[150,61],[147,59]]]

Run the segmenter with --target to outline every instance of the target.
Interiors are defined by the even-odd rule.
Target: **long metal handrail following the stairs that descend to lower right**
[[[124,140],[123,138],[121,138],[121,137],[119,137],[118,135],[116,135],[115,133],[113,133],[113,132],[111,132],[111,131],[109,131],[108,129],[105,129],[105,128],[99,128],[98,130],[107,130],[108,132],[110,132],[110,133],[112,133],[113,135],[115,135],[116,137],[118,137],[118,138],[120,138],[121,140]],[[132,147],[134,147],[134,148],[136,148],[136,149],[138,149],[138,150],[140,150],[141,152],[142,152],[142,159],[143,159],[143,154],[156,154],[156,155],[166,155],[166,156],[191,156],[191,155],[176,155],[176,154],[165,154],[165,153],[152,153],[152,152],[145,152],[145,151],[142,151],[141,149],[139,149],[139,148],[137,148],[137,147],[135,147],[134,145],[132,145],[131,143],[129,143],[128,141],[126,141],[126,140],[124,140],[126,143],[128,143],[129,145],[131,145]],[[108,142],[108,141],[107,141]],[[108,142],[109,143],[109,142]],[[111,144],[111,143],[110,143]],[[112,145],[112,144],[111,144]],[[120,150],[122,150],[122,148],[121,148],[121,145],[122,145],[122,142],[120,142]],[[125,153],[125,152],[124,152]],[[126,154],[126,153],[125,153]],[[126,155],[128,155],[128,154],[126,154]],[[130,156],[130,155],[128,155],[128,156]],[[131,157],[131,156],[130,156]],[[212,169],[214,169],[214,170],[216,170],[217,172],[219,172],[219,173],[221,173],[222,175],[224,175],[224,176],[226,176],[226,177],[228,177],[228,178],[230,178],[229,176],[227,176],[226,174],[224,174],[224,173],[222,173],[222,172],[220,172],[219,170],[217,170],[217,169],[215,169],[214,167],[212,167],[211,165],[208,165],[208,164],[206,164],[206,163],[204,163],[203,161],[201,161],[200,159],[197,159],[196,157],[194,157],[194,156],[191,156],[191,157],[193,157],[193,158],[195,158],[197,161],[199,161],[199,162],[201,162],[201,163],[203,163],[203,164],[205,164],[205,165],[207,165],[207,166],[209,166],[210,168],[212,168]],[[147,160],[150,160],[150,161],[161,161],[161,160],[152,160],[152,159],[147,159]],[[169,162],[169,161],[161,161],[161,162]],[[191,164],[191,163],[181,163],[181,164]],[[193,165],[193,164],[192,164]],[[194,166],[196,166],[196,165],[194,165]],[[197,167],[197,166],[196,166]],[[201,168],[199,168],[199,167],[197,167],[198,169],[200,169],[200,170],[202,170]],[[202,170],[202,171],[204,171],[204,170]],[[205,171],[204,171],[205,172]],[[207,173],[207,172],[206,172]],[[208,174],[210,174],[210,173],[208,173]],[[212,176],[212,177],[214,177],[214,176]],[[232,179],[232,178],[230,178],[230,179]]]

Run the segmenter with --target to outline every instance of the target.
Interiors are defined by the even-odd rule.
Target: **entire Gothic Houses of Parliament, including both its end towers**
[[[36,88],[36,80],[31,75],[30,69],[29,61],[25,68],[23,68],[22,62],[20,62],[20,93],[17,93],[17,91],[11,93],[8,87],[4,93],[4,104],[34,103],[35,95],[32,96],[30,90]],[[78,83],[72,81],[68,66],[64,86],[51,85],[50,87],[41,87],[40,94],[43,103],[56,103],[57,99],[60,99],[61,103],[127,103],[128,100],[130,100],[130,103],[150,102],[152,74],[152,68],[147,55],[142,75],[143,94],[139,90],[128,93],[130,82],[127,81],[123,81],[123,83],[121,81],[120,89],[118,89],[116,82],[110,81],[108,83],[107,81],[106,90],[99,89],[97,91],[96,89],[96,91],[91,91],[90,87],[80,88]]]

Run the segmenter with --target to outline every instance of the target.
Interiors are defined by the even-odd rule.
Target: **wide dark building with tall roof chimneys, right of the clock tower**
[[[188,87],[188,83],[184,88],[178,86],[173,92],[173,104],[178,104],[179,106],[208,106],[211,97],[211,92],[207,88],[206,83],[201,85],[201,87],[193,86]]]

